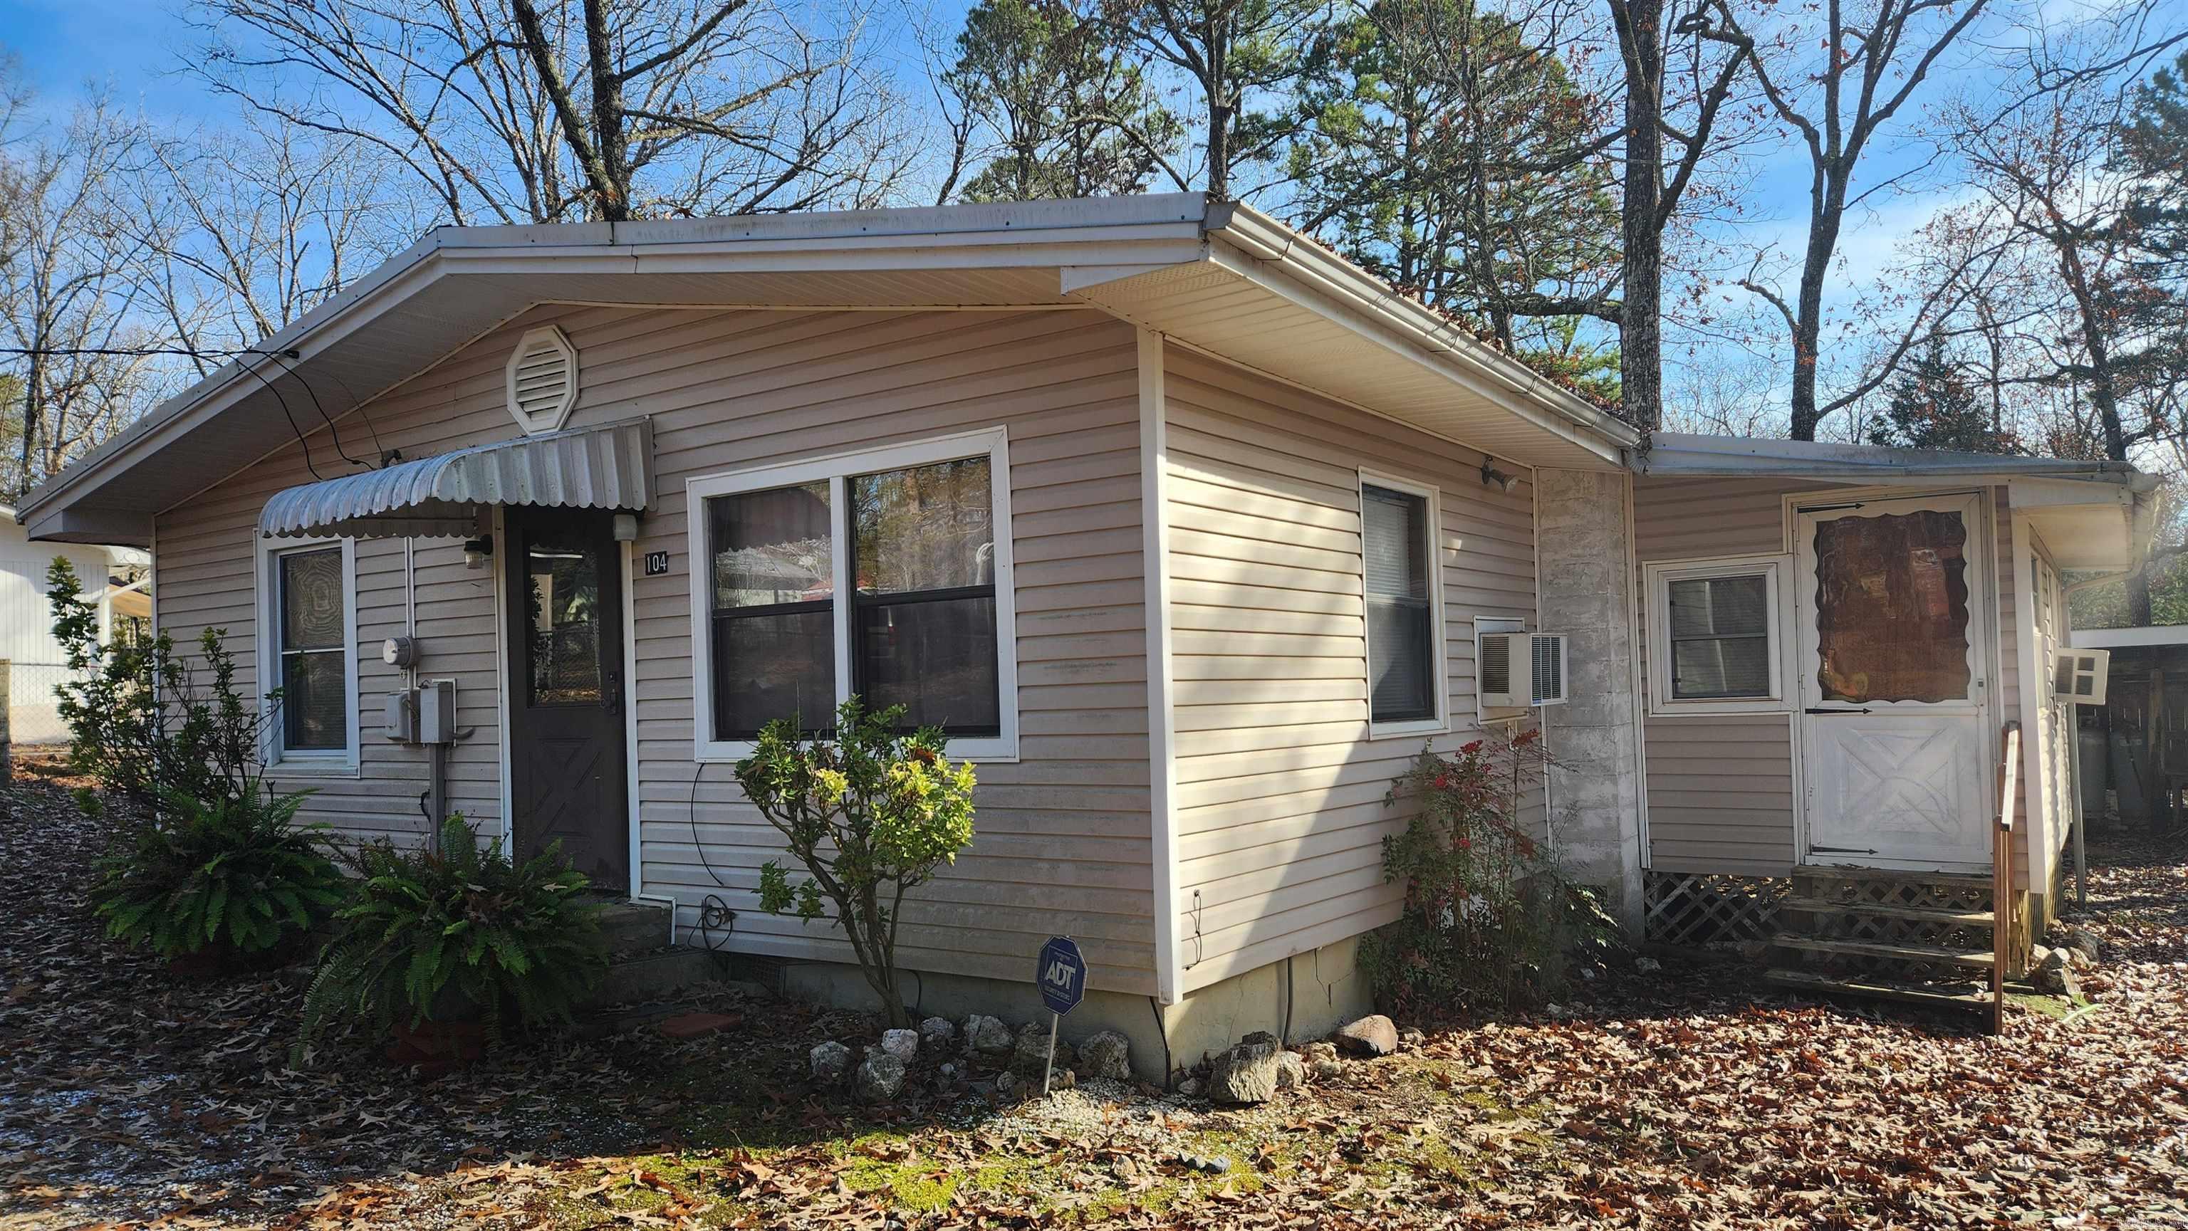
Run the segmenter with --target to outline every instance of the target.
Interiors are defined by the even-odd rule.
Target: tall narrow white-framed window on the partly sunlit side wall
[[[1370,719],[1429,722],[1438,715],[1429,499],[1363,483],[1361,558]]]

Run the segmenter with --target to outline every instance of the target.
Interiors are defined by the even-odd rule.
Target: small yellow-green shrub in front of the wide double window
[[[834,739],[777,719],[737,761],[744,794],[812,875],[792,886],[790,872],[768,859],[759,868],[759,905],[807,923],[834,905],[891,1025],[910,1025],[897,990],[904,894],[971,844],[974,787],[971,765],[943,757],[939,728],[904,732],[901,719],[904,706],[869,713],[851,697],[836,708]]]

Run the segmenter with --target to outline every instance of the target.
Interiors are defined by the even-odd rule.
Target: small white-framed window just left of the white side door
[[[1650,673],[1659,713],[1779,708],[1781,558],[1650,564]]]

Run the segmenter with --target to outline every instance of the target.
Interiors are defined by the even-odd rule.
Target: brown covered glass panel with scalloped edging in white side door
[[[1965,547],[1967,525],[1950,509],[1816,523],[1823,700],[1967,700]]]

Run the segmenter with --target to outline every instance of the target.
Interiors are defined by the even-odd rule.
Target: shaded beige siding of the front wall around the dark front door
[[[1136,335],[1098,313],[759,313],[540,306],[368,407],[379,446],[424,457],[510,439],[503,363],[516,337],[558,324],[578,348],[569,426],[652,415],[656,507],[632,555],[670,551],[632,579],[643,892],[737,910],[731,949],[849,960],[823,925],[757,910],[775,831],[731,781],[691,761],[691,560],[685,481],[748,466],[917,442],[989,426],[1011,437],[1017,575],[1020,761],[980,765],[971,851],[906,910],[912,969],[1022,980],[1041,940],[1079,938],[1096,988],[1153,990],[1147,776],[1147,634],[1140,571]],[[352,455],[363,418],[339,420]],[[322,474],[352,472],[313,435]],[[269,494],[309,481],[295,446],[160,518],[160,617],[177,636],[234,630],[254,663],[254,527]],[[357,835],[411,833],[420,750],[379,737],[379,695],[398,673],[379,641],[403,625],[403,542],[357,544],[363,774],[311,781],[311,813]],[[492,571],[455,542],[418,542],[422,676],[459,680],[453,802],[499,829]],[[389,783],[396,783],[394,787]],[[696,805],[696,807],[694,807]],[[707,844],[705,859],[694,833]],[[711,868],[711,870],[709,870]]]

